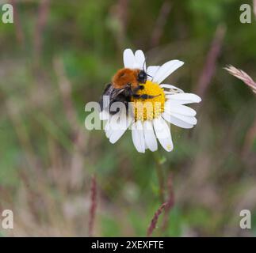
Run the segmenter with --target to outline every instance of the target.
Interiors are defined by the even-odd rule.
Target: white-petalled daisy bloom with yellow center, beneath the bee
[[[192,128],[197,124],[197,112],[185,104],[201,102],[201,98],[193,93],[184,93],[174,85],[162,83],[183,64],[184,62],[179,60],[171,60],[162,66],[148,66],[147,82],[144,89],[139,90],[137,94],[154,97],[143,100],[132,97],[132,114],[127,114],[125,110],[120,110],[114,115],[101,111],[101,119],[107,120],[105,134],[109,142],[117,142],[126,130],[131,129],[132,142],[139,153],[144,153],[146,149],[156,151],[157,139],[166,151],[174,149],[170,123],[182,128]],[[143,51],[138,50],[133,54],[131,49],[125,49],[124,67],[145,69]]]

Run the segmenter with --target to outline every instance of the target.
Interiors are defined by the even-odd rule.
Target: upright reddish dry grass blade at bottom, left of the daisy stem
[[[96,178],[93,176],[90,187],[90,217],[89,217],[89,236],[93,236],[94,220],[97,207],[97,186]]]

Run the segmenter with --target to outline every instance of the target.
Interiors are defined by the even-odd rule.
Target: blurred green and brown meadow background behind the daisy
[[[197,126],[172,126],[174,151],[159,151],[175,202],[153,236],[256,235],[256,99],[223,69],[256,78],[254,13],[239,21],[252,1],[10,3],[14,25],[0,21],[0,211],[13,210],[14,228],[1,236],[88,236],[93,175],[94,236],[146,235],[162,204],[152,153],[137,153],[130,132],[112,145],[84,127],[85,104],[123,66],[126,47],[148,65],[181,59],[166,82],[203,98]]]

